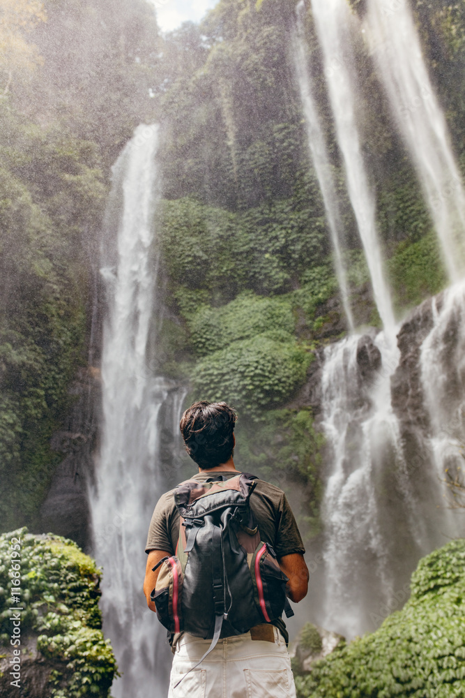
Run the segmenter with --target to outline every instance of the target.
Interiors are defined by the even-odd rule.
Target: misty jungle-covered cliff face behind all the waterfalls
[[[0,24],[1,527],[40,528],[61,457],[50,437],[89,357],[110,166],[137,124],[160,121],[166,312],[157,370],[190,380],[192,399],[234,403],[241,458],[264,473],[279,463],[311,487],[305,516],[316,531],[322,444],[298,391],[319,346],[346,327],[294,74],[294,2],[220,0],[201,25],[166,36],[144,0],[13,4]],[[363,12],[363,3],[353,6]],[[463,162],[464,10],[413,6]],[[377,325],[310,11],[305,22],[353,313],[358,324]],[[445,275],[361,39],[356,56],[363,151],[402,313],[441,289]]]

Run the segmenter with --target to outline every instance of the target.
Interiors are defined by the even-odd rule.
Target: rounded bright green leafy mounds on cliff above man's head
[[[234,301],[200,306],[188,326],[200,358],[192,371],[196,395],[231,401],[257,416],[287,401],[305,380],[311,355],[294,336],[289,297],[243,292]]]

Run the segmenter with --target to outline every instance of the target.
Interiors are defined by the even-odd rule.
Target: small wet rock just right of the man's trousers
[[[312,671],[314,662],[327,657],[342,643],[345,643],[345,638],[337,632],[305,623],[296,640],[289,646],[293,670],[297,674]]]

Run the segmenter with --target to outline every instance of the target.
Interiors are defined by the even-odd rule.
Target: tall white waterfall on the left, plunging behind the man
[[[178,429],[179,392],[149,369],[157,308],[158,126],[138,126],[113,168],[102,276],[102,442],[90,493],[94,554],[103,567],[104,632],[123,674],[116,698],[166,695],[170,653],[142,593],[148,523],[164,491],[160,459]],[[115,232],[117,233],[115,241]],[[182,398],[181,398],[182,399]],[[162,443],[163,442],[163,443]]]

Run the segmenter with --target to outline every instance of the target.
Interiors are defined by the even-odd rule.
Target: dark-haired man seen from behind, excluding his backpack
[[[224,402],[201,401],[185,410],[181,434],[188,454],[199,466],[199,473],[192,480],[205,483],[218,476],[229,479],[239,475],[233,459],[235,423],[234,410]],[[287,596],[299,602],[307,594],[309,574],[303,559],[303,542],[284,492],[264,480],[257,480],[250,495],[250,510],[261,540],[273,547],[280,569],[289,578]],[[155,611],[155,603],[151,600],[151,591],[160,571],[160,567],[155,571],[153,567],[162,558],[175,554],[179,525],[180,517],[171,490],[155,506],[148,530],[144,594],[152,611]],[[186,632],[181,637],[175,636],[169,698],[188,695],[291,698],[296,695],[287,652],[287,632],[281,618],[260,623],[250,632],[222,637],[196,667],[210,645],[209,639]],[[181,683],[180,678],[183,678]]]

